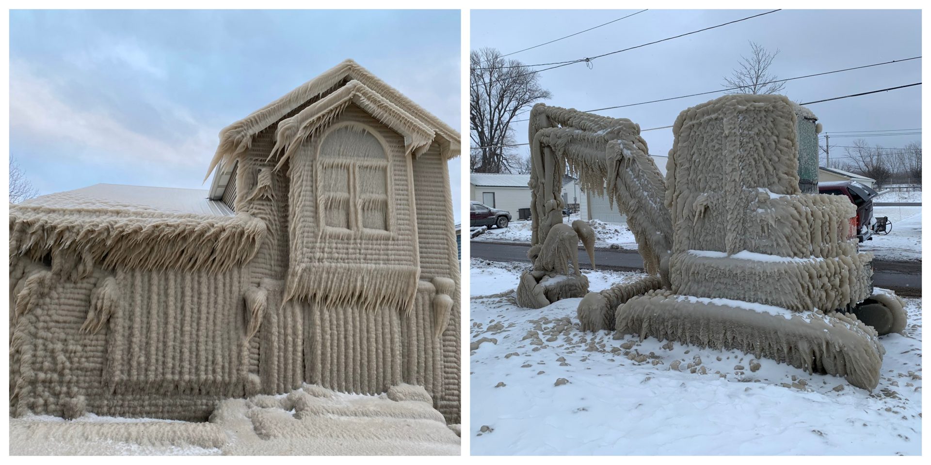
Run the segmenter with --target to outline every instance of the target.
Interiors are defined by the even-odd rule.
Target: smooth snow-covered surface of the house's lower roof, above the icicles
[[[22,206],[123,206],[130,209],[154,210],[164,213],[194,213],[232,217],[235,215],[223,202],[209,200],[206,189],[130,186],[126,184],[94,184],[92,186],[50,193],[22,202]]]

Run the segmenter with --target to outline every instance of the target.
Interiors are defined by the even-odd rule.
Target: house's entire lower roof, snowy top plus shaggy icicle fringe
[[[225,272],[252,259],[266,231],[197,189],[95,184],[9,206],[11,263],[51,254],[51,272],[73,279],[95,267]]]

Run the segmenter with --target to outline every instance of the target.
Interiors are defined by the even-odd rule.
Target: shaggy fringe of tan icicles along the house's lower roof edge
[[[252,259],[266,232],[264,221],[247,213],[10,206],[11,256],[42,261],[51,254],[52,272],[74,281],[94,266],[224,272]]]

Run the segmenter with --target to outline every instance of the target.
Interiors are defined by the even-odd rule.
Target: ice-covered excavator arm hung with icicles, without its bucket
[[[533,106],[530,117],[532,245],[562,222],[562,177],[568,168],[582,188],[607,194],[627,215],[647,272],[668,286],[672,223],[663,175],[647,152],[640,126],[572,109]]]

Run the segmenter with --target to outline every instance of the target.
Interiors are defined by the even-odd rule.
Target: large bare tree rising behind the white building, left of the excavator
[[[495,48],[469,54],[469,165],[477,173],[509,173],[519,163],[511,121],[551,94],[541,88],[536,73],[518,60],[505,60]]]

